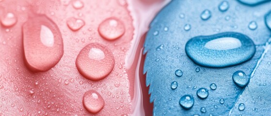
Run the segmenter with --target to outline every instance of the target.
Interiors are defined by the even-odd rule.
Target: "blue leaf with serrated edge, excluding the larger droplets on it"
[[[154,102],[155,116],[236,116],[267,115],[271,112],[271,51],[269,44],[271,31],[264,21],[271,10],[271,2],[251,7],[237,0],[228,0],[229,9],[221,12],[218,8],[222,0],[172,0],[150,24],[143,53],[146,54],[143,72],[146,86]],[[201,13],[208,9],[211,17],[201,19]],[[257,28],[249,29],[255,21]],[[184,29],[189,24],[190,29]],[[256,45],[253,58],[239,65],[226,68],[207,68],[193,63],[185,53],[186,43],[193,37],[208,36],[223,32],[239,32]],[[269,51],[268,51],[269,50]],[[266,53],[266,54],[265,54]],[[197,72],[196,68],[200,70]],[[181,70],[182,76],[175,75]],[[247,87],[238,87],[232,79],[233,73],[243,71],[252,75]],[[176,81],[178,87],[171,88]],[[210,84],[216,84],[215,90]],[[198,88],[208,89],[208,97],[200,99]],[[192,95],[194,104],[186,110],[179,104],[184,95]],[[239,111],[239,104],[245,109]],[[206,112],[201,112],[201,109]]]

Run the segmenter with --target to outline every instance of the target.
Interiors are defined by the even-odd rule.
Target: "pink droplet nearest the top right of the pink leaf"
[[[124,32],[124,24],[117,18],[111,17],[104,20],[98,27],[99,34],[106,40],[116,40],[120,38]]]

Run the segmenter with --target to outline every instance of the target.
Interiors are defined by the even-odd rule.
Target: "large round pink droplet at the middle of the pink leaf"
[[[78,71],[92,81],[98,81],[110,74],[115,59],[112,52],[102,44],[90,43],[85,46],[76,58]]]

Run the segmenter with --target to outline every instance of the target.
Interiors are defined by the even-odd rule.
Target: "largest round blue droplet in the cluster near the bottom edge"
[[[194,105],[194,98],[191,95],[184,95],[179,103],[183,108],[190,109]]]

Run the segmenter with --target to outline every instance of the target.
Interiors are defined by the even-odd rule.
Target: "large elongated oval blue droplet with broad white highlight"
[[[246,35],[224,32],[194,37],[186,43],[185,51],[196,64],[222,68],[247,61],[254,56],[256,48]]]

